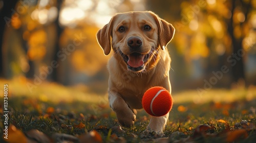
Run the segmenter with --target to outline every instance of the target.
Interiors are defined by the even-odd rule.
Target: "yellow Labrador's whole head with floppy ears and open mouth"
[[[127,65],[127,69],[140,72],[159,60],[158,51],[174,36],[174,27],[151,11],[116,14],[97,33],[97,40],[104,54],[111,47],[115,57]]]

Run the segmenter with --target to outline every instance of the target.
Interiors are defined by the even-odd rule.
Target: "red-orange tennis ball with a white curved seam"
[[[142,98],[144,110],[153,116],[163,116],[173,107],[173,98],[169,91],[160,86],[147,89]]]

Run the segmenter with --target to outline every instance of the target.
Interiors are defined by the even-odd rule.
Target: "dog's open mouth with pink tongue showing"
[[[123,60],[126,62],[129,69],[133,71],[142,71],[145,69],[145,63],[148,58],[150,58],[150,54],[140,54],[134,52],[130,55],[125,55],[121,53]]]

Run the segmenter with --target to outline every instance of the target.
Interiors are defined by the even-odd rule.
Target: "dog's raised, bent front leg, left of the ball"
[[[124,102],[118,92],[109,91],[110,107],[116,112],[118,122],[124,127],[131,127],[134,125],[136,115]]]

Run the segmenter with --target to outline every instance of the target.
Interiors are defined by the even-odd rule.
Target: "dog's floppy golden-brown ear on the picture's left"
[[[113,18],[108,24],[97,32],[97,41],[104,51],[105,55],[109,55],[111,51],[111,36],[113,28]]]

